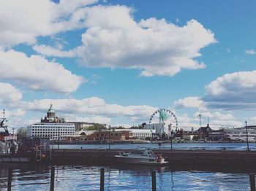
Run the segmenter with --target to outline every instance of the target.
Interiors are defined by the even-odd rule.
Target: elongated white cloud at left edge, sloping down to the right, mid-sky
[[[22,52],[0,51],[0,79],[8,79],[32,90],[71,93],[78,89],[82,77],[72,74],[59,63],[39,55],[27,57]]]

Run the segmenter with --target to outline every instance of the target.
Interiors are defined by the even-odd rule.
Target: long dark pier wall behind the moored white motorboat
[[[118,152],[129,152],[128,149],[52,149],[51,163],[117,163]],[[169,165],[195,166],[219,165],[232,168],[254,168],[255,151],[227,150],[170,150],[153,149],[155,154],[162,154]]]

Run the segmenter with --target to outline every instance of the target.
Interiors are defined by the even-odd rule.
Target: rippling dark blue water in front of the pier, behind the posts
[[[15,166],[12,190],[50,190],[50,167]],[[102,166],[56,167],[55,190],[99,190]],[[157,171],[157,190],[250,190],[248,174],[211,171]],[[150,167],[138,165],[105,167],[105,190],[151,190]],[[7,190],[7,166],[0,165],[0,190]]]

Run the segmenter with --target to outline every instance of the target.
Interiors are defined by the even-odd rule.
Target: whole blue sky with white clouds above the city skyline
[[[0,109],[67,121],[256,125],[256,1],[1,0]],[[170,116],[170,120],[172,116]]]

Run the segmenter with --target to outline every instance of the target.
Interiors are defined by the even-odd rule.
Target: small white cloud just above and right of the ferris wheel
[[[187,97],[183,99],[179,99],[174,102],[174,107],[182,108],[182,107],[191,107],[191,108],[203,108],[204,102],[200,97]]]

